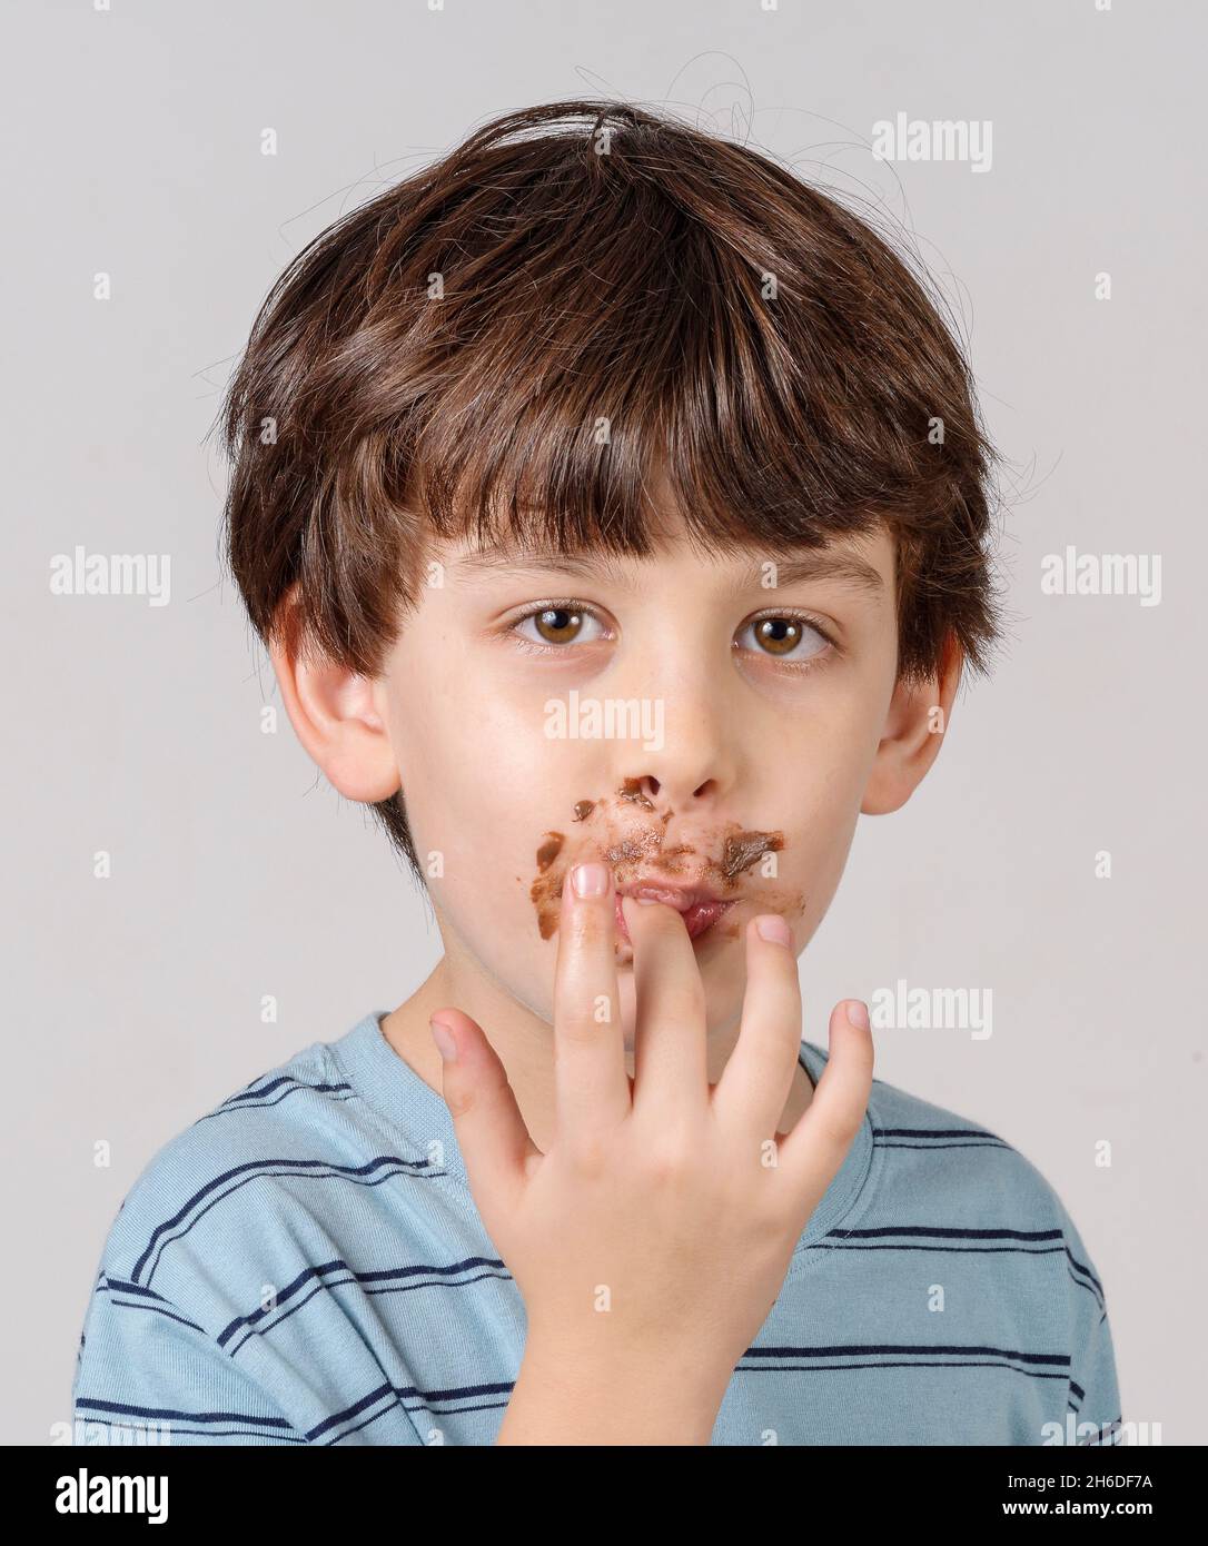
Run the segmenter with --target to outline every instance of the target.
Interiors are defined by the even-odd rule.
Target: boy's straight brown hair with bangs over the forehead
[[[985,671],[995,453],[926,283],[746,145],[620,102],[493,119],[257,315],[223,405],[257,634],[377,676],[433,533],[642,555],[657,470],[711,552],[886,523],[899,677],[950,635]],[[422,883],[402,793],[373,810]]]

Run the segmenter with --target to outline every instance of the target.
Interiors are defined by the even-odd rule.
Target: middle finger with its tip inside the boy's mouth
[[[634,1115],[688,1118],[708,1105],[705,988],[674,908],[622,897],[633,945]]]

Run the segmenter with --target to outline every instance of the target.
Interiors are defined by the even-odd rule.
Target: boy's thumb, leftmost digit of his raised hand
[[[500,1054],[483,1027],[461,1010],[436,1010],[435,1025],[449,1033],[455,1057],[441,1051],[445,1105],[453,1118],[470,1192],[490,1234],[492,1218],[506,1218],[520,1203],[534,1160],[532,1141]],[[436,1039],[439,1047],[439,1039]]]

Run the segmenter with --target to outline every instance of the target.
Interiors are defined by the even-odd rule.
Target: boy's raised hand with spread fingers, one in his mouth
[[[597,895],[578,897],[569,878],[563,887],[549,1152],[534,1144],[481,1027],[458,1010],[433,1016],[456,1044],[444,1098],[483,1223],[524,1299],[529,1345],[597,1370],[676,1367],[719,1405],[863,1121],[872,1037],[835,1008],[814,1099],[780,1136],[801,1042],[792,948],[759,935],[766,920],[747,925],[739,1036],[711,1087],[705,994],[684,920],[626,897],[631,1079],[613,880],[597,869]]]

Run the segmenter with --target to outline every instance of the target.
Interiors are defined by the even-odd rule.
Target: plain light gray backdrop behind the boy
[[[877,1074],[1041,1169],[1106,1283],[1124,1416],[1205,1441],[1203,31],[1162,0],[6,9],[0,1439],[70,1419],[101,1246],[153,1152],[438,957],[363,810],[285,714],[260,731],[280,699],[220,578],[226,468],[204,444],[260,298],[473,125],[606,93],[749,124],[863,192],[964,318],[1010,458],[1010,637],[916,798],[862,818],[801,962],[806,1036],[899,977],[993,989],[988,1040],[883,1033]],[[993,170],[872,161],[899,110],[993,121]],[[170,553],[170,604],[51,595],[77,543]],[[1067,543],[1162,553],[1162,604],[1041,595]]]

